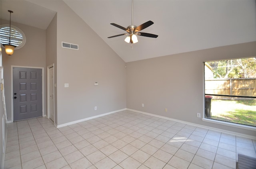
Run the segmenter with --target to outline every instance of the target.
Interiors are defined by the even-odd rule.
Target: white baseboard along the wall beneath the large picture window
[[[206,128],[206,129],[214,130],[216,132],[222,132],[222,133],[232,134],[232,135],[241,136],[241,137],[245,137],[245,138],[250,138],[250,139],[256,140],[256,136],[251,136],[251,135],[247,135],[247,134],[231,132],[231,131],[222,130],[222,129],[219,129],[219,128],[203,126],[203,125],[200,125],[200,124],[185,122],[185,121],[182,121],[182,120],[177,120],[177,119],[174,119],[174,118],[168,118],[168,117],[164,117],[164,116],[159,116],[159,115],[156,115],[156,114],[151,114],[151,113],[147,113],[147,112],[133,110],[133,109],[130,109],[130,108],[127,108],[126,110],[130,110],[130,111],[138,112],[138,113],[142,113],[142,114],[147,114],[147,115],[155,116],[155,117],[159,117],[159,118],[164,118],[164,119],[167,119],[167,120],[173,120],[175,122],[181,122],[181,123],[189,124],[191,126],[196,126],[196,127],[200,127],[200,128]]]

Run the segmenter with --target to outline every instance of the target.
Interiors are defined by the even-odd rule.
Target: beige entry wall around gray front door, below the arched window
[[[8,24],[9,21],[1,20],[1,24]],[[16,26],[26,36],[26,44],[20,48],[14,50],[14,54],[11,56],[2,53],[2,60],[4,66],[4,83],[5,83],[5,96],[6,96],[6,111],[8,121],[11,119],[11,66],[26,66],[26,67],[43,67],[46,66],[46,31],[32,26],[26,26],[12,22],[13,26]],[[46,75],[46,69],[44,69]],[[46,79],[44,77],[44,82]],[[46,85],[44,84],[44,87]],[[44,96],[46,88],[44,88]],[[46,102],[46,98],[44,99]],[[44,106],[46,110],[46,105]],[[43,112],[44,114],[45,112]]]

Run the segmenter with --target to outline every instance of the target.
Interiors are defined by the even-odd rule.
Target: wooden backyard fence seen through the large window
[[[256,78],[207,79],[205,80],[205,93],[236,96],[256,96]],[[216,96],[214,98],[218,99]]]

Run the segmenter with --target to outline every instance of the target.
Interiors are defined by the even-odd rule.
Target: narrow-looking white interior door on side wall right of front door
[[[54,69],[50,67],[49,69],[49,110],[50,110],[50,119],[54,121]]]

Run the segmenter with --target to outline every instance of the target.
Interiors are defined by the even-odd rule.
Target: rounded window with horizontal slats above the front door
[[[1,43],[8,44],[9,37],[10,37],[10,26],[9,25],[2,25],[0,26],[0,36],[1,36]],[[21,48],[26,42],[26,37],[24,33],[17,27],[11,26],[11,44],[15,45],[15,49]]]

